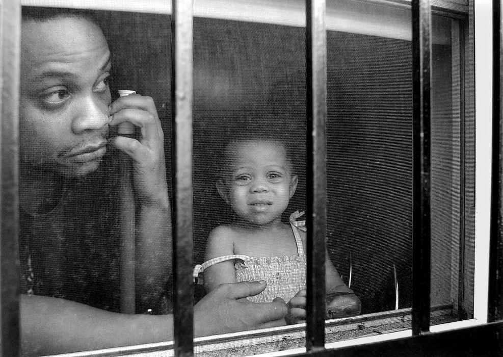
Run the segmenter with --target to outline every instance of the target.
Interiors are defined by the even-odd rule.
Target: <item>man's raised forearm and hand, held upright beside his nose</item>
[[[128,121],[139,127],[137,139],[117,136],[115,147],[133,162],[136,222],[137,305],[154,310],[171,275],[171,212],[166,181],[164,134],[152,98],[120,97],[110,105],[111,125]]]

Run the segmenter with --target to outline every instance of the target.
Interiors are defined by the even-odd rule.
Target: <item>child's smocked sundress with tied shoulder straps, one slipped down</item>
[[[264,280],[267,288],[260,294],[248,297],[253,302],[271,302],[281,297],[288,302],[299,290],[306,288],[306,254],[302,246],[299,230],[305,232],[305,221],[297,221],[304,212],[290,215],[290,226],[297,244],[297,256],[248,257],[242,254],[217,257],[194,268],[194,278],[211,265],[236,260],[234,269],[237,282],[257,282]]]

